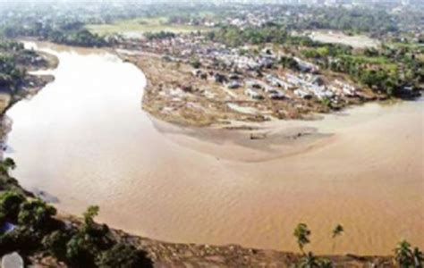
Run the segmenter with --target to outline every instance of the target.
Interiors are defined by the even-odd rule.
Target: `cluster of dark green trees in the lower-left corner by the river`
[[[2,176],[15,166],[12,159],[2,163]],[[8,188],[2,181],[2,189]],[[106,225],[94,222],[98,206],[90,206],[81,222],[56,218],[46,202],[22,191],[0,194],[0,255],[18,251],[23,256],[52,255],[70,267],[151,267],[146,253],[118,242]],[[4,229],[5,224],[13,226]]]

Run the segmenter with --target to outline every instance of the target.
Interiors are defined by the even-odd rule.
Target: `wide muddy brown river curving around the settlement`
[[[143,73],[114,54],[38,46],[60,60],[55,81],[7,113],[7,156],[21,184],[61,211],[99,205],[101,222],[174,242],[296,250],[293,228],[307,222],[318,253],[332,252],[336,223],[335,253],[390,254],[400,239],[424,247],[422,100],[273,121],[270,131],[331,135],[260,149],[153,120],[141,110]]]

